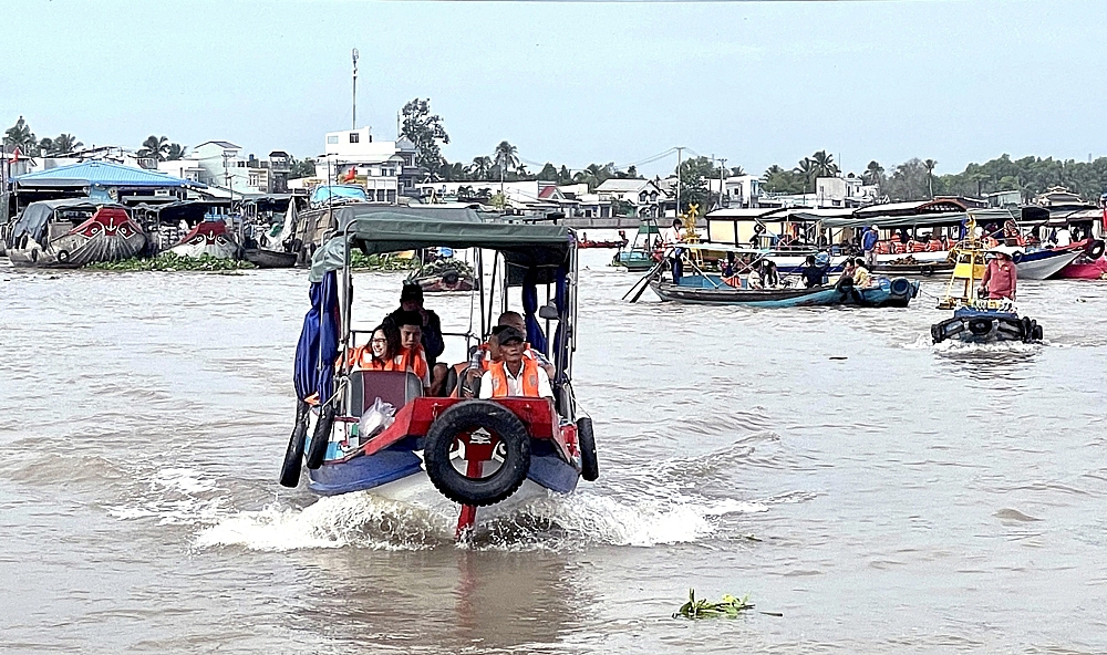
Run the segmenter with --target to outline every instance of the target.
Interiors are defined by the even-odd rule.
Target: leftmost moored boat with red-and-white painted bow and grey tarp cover
[[[146,235],[126,207],[91,198],[31,202],[12,225],[7,250],[12,264],[79,268],[137,256]]]

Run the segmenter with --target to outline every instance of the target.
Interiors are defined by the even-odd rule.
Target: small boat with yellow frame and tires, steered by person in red
[[[948,339],[969,342],[1041,341],[1037,321],[1020,316],[1012,300],[987,300],[977,297],[980,281],[986,268],[985,250],[972,230],[969,238],[953,249],[955,267],[945,293],[938,303],[940,310],[953,310],[953,315],[930,326],[934,343]]]

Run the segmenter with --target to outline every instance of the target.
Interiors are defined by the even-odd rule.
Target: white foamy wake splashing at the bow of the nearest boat
[[[466,543],[478,550],[571,551],[597,545],[652,547],[714,534],[727,514],[768,507],[732,499],[682,497],[624,503],[593,492],[535,499],[479,523]],[[292,508],[278,503],[227,516],[200,530],[200,549],[241,547],[284,551],[315,548],[423,550],[453,545],[456,514],[385,500],[368,492],[321,498]]]

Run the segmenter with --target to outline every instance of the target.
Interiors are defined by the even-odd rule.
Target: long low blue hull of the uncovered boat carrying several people
[[[919,282],[904,278],[881,280],[868,289],[838,290],[835,287],[814,289],[734,289],[690,287],[669,282],[651,282],[650,287],[663,301],[691,304],[726,304],[753,308],[795,308],[858,305],[867,308],[906,308],[919,293]],[[893,291],[894,289],[894,291]]]

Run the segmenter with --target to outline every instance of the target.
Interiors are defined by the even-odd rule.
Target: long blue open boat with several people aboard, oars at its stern
[[[787,279],[783,284],[768,289],[757,289],[749,275],[741,272],[730,277],[706,272],[710,260],[701,259],[703,252],[712,252],[721,247],[714,243],[689,243],[674,249],[670,262],[676,273],[656,270],[650,280],[650,288],[663,301],[693,304],[741,304],[756,308],[829,306],[858,305],[867,308],[906,308],[919,294],[920,283],[907,278],[873,277],[871,283],[856,287],[852,278],[840,278],[832,285],[804,288]],[[735,249],[748,252],[746,249]],[[761,261],[772,261],[763,259]],[[748,264],[757,266],[757,261]],[[684,270],[694,273],[684,274]],[[824,272],[826,268],[824,268]],[[650,277],[650,275],[648,275]],[[796,285],[793,285],[795,283]]]

